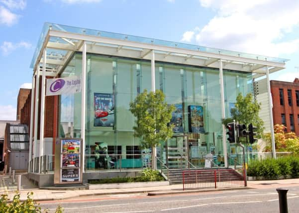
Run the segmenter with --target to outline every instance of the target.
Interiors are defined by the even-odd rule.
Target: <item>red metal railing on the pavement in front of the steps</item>
[[[183,190],[199,188],[246,187],[244,169],[190,170],[183,172]]]

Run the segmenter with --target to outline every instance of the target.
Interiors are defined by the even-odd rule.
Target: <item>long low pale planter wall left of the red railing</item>
[[[88,186],[89,190],[127,189],[127,188],[168,186],[169,181],[133,182],[133,183],[118,183],[118,184],[86,184],[86,185]]]

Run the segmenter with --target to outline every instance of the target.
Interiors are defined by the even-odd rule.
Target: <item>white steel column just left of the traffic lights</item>
[[[219,60],[219,83],[220,83],[220,95],[221,95],[221,115],[222,119],[225,118],[225,105],[224,105],[224,86],[223,86],[223,70],[222,61]],[[222,147],[224,156],[224,166],[227,168],[227,147],[226,147],[226,127],[222,124]]]

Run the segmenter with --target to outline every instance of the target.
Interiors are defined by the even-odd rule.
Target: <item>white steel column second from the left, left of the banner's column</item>
[[[35,172],[35,157],[36,157],[36,144],[37,144],[37,124],[38,124],[38,105],[39,105],[39,65],[36,69],[36,86],[35,86],[35,106],[34,106],[34,144],[33,144],[33,169]]]

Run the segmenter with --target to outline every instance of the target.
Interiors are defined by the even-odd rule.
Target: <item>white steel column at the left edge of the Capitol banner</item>
[[[44,122],[45,122],[45,86],[46,86],[46,62],[47,50],[43,51],[43,73],[41,78],[41,94],[40,94],[40,132],[39,132],[39,165],[38,173],[41,173],[42,156],[44,155]]]

